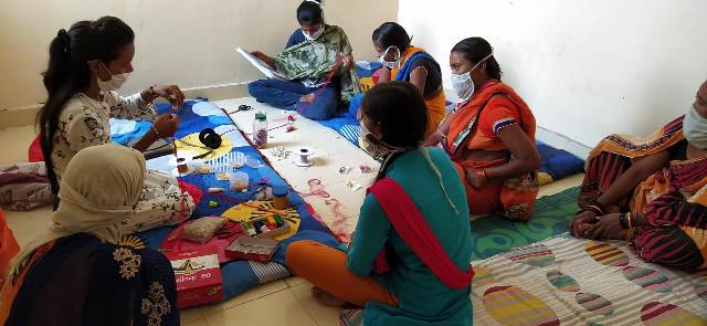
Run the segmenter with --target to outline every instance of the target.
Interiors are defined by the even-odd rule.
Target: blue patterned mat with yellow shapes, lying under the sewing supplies
[[[168,105],[158,106],[158,112],[160,113],[165,113],[168,109]],[[260,155],[260,153],[247,143],[238,129],[235,129],[231,119],[212,103],[204,99],[188,101],[178,114],[181,123],[176,135],[177,138],[187,139],[190,144],[199,144],[198,135],[203,128],[212,128],[217,133],[223,134],[223,145],[213,156],[207,157],[207,159],[232,151],[241,151],[246,156],[254,157],[263,162],[262,167],[257,169],[249,167],[240,169],[241,171],[246,172],[251,179],[251,186],[246,193],[228,190],[229,181],[219,181],[215,179],[213,173],[192,173],[182,177],[181,181],[186,182],[188,185],[187,187],[191,188],[192,191],[196,191],[198,194],[194,196],[198,203],[194,213],[192,214],[192,219],[207,215],[221,215],[236,203],[246,201],[249,196],[258,187],[256,182],[260,180],[265,180],[271,186],[287,186],[289,188],[285,180],[283,180],[271,166],[265,164],[265,159]],[[140,124],[138,123],[137,126],[139,125]],[[140,136],[139,132],[135,132],[131,135],[131,137]],[[177,146],[179,148],[186,145],[180,145],[178,143]],[[192,148],[190,148],[190,150],[192,150]],[[203,151],[203,149],[198,148],[193,148],[193,150]],[[147,166],[151,169],[170,171],[172,169],[172,167],[168,165],[170,158],[173,158],[173,156],[151,159],[148,161]],[[226,191],[223,193],[225,197],[209,193],[207,190],[210,187],[226,188]],[[285,251],[287,245],[293,241],[315,240],[331,246],[339,245],[328,229],[312,214],[310,209],[302,197],[292,190],[292,188],[289,188],[289,202],[299,214],[298,232],[281,243],[272,263],[262,264],[257,262],[235,261],[222,265],[223,299],[234,297],[257,284],[289,276],[289,271],[285,267]],[[190,191],[190,193],[192,193],[192,191]],[[210,208],[209,201],[215,201],[219,206],[217,208]],[[147,245],[149,248],[157,249],[172,230],[173,228],[170,227],[159,228],[141,232],[133,236],[127,236],[124,241],[125,244],[133,244],[137,246]]]

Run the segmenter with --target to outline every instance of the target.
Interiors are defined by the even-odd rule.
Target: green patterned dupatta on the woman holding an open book
[[[351,54],[354,50],[344,30],[326,25],[324,34],[315,41],[305,41],[285,49],[275,56],[275,69],[287,80],[325,78],[336,63],[337,54]],[[341,101],[350,102],[355,93],[360,93],[356,67],[346,71],[339,67],[341,77]]]

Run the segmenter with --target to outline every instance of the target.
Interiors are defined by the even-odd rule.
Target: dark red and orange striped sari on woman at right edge
[[[609,189],[634,159],[668,150],[684,139],[683,117],[646,138],[604,138],[588,159],[580,208]],[[682,270],[707,267],[707,157],[669,161],[608,211],[645,215],[652,227],[630,230],[626,239],[645,261]]]

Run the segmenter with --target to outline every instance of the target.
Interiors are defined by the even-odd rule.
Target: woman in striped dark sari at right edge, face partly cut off
[[[707,267],[707,82],[684,117],[591,151],[574,236],[625,240],[645,261]]]

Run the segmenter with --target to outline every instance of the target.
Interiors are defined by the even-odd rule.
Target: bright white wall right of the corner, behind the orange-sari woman
[[[445,67],[483,36],[538,124],[592,146],[685,113],[707,78],[704,0],[400,0],[399,22]]]

